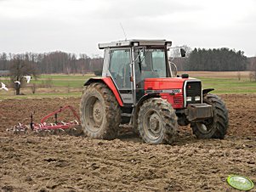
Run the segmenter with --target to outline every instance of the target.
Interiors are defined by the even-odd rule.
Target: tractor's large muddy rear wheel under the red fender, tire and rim
[[[121,110],[114,94],[104,83],[95,82],[85,87],[80,118],[83,132],[89,138],[117,137]]]

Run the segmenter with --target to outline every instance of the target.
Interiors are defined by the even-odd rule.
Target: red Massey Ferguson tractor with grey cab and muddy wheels
[[[179,126],[190,124],[197,138],[224,138],[229,119],[224,102],[187,74],[174,75],[168,60],[172,42],[126,40],[100,43],[102,77],[84,83],[80,116],[89,138],[112,139],[133,127],[149,144],[170,144]],[[180,49],[182,56],[185,50]]]

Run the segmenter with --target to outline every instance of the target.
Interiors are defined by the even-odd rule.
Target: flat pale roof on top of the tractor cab
[[[143,40],[143,39],[132,39],[118,42],[99,43],[99,48],[120,48],[120,47],[132,47],[132,46],[172,46],[171,41],[167,40]]]

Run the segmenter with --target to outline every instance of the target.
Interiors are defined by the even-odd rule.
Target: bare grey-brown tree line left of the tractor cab
[[[85,74],[100,71],[103,58],[88,57],[87,54],[68,54],[65,52],[50,52],[44,54],[0,54],[0,71],[9,71],[17,65],[30,65],[37,74]]]

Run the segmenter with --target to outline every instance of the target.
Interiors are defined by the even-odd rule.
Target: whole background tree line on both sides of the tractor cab
[[[187,48],[187,57],[179,58],[179,51],[172,60],[179,71],[250,71],[254,66],[242,51],[229,48]],[[69,54],[65,52],[50,52],[44,54],[0,54],[0,71],[9,71],[17,62],[25,62],[33,66],[38,74],[51,73],[92,73],[102,70],[103,58],[90,58],[87,54]],[[18,62],[18,63],[19,63]]]

